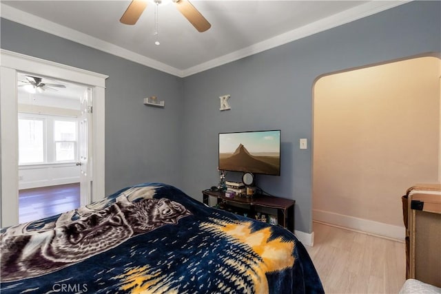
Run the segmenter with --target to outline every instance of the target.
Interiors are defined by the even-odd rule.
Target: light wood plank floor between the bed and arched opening
[[[306,246],[325,293],[398,293],[406,277],[404,242],[318,222]]]

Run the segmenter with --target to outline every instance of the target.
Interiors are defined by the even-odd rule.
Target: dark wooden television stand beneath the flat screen
[[[254,216],[256,213],[256,207],[276,209],[277,224],[294,233],[294,205],[296,204],[296,200],[261,194],[256,194],[252,197],[234,196],[234,198],[228,198],[225,196],[224,191],[212,191],[211,189],[203,190],[202,195],[203,202],[207,205],[209,196],[216,198],[217,204],[223,202],[245,204],[249,207],[249,211],[247,213],[247,216],[249,217]]]

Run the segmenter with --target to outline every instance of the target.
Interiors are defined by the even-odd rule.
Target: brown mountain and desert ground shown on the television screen
[[[219,169],[227,171],[249,171],[256,174],[278,174],[278,154],[250,154],[239,144],[232,154],[221,154]]]

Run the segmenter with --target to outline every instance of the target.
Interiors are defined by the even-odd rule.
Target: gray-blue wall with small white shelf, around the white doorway
[[[117,56],[1,19],[1,48],[107,74],[105,192],[140,182],[181,185],[183,80]],[[165,108],[147,107],[156,95]]]

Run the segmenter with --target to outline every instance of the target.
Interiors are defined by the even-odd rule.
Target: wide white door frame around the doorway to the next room
[[[0,50],[0,61],[0,227],[19,223],[17,72],[59,78],[92,88],[94,97],[92,174],[94,181],[90,201],[103,198],[105,196],[105,79],[108,76],[9,50]]]

